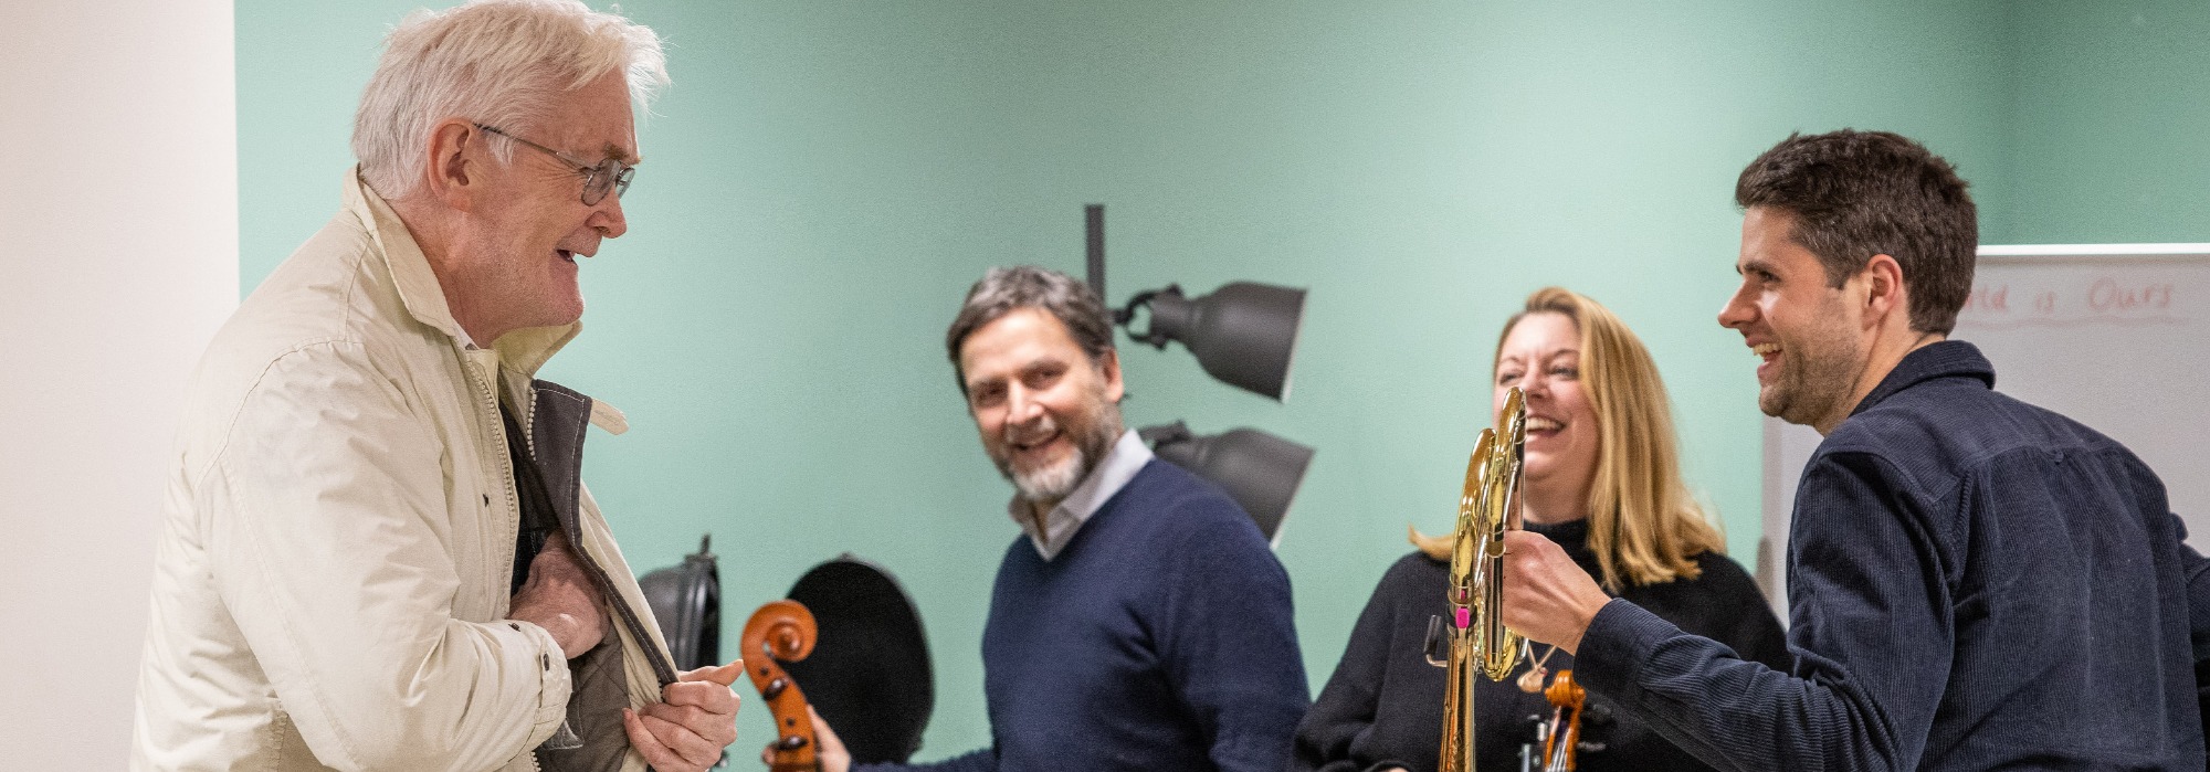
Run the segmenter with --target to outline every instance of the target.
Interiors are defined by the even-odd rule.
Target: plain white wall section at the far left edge
[[[236,304],[230,0],[0,24],[0,765],[122,770],[161,470]]]

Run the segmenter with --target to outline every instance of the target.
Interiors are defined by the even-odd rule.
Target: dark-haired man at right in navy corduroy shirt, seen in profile
[[[1607,598],[1525,532],[1505,622],[1722,770],[2203,770],[2210,569],[2133,452],[1945,340],[1978,243],[1965,181],[1841,130],[1781,141],[1735,201],[1719,324],[1764,360],[1757,406],[1825,435],[1788,543],[1795,668]]]

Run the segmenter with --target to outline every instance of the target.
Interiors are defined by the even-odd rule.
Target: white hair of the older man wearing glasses
[[[617,9],[619,11],[619,9]],[[404,199],[422,181],[422,143],[444,119],[528,132],[559,95],[621,71],[643,110],[667,86],[661,37],[581,0],[477,0],[413,11],[391,37],[354,112],[354,157],[369,187]],[[491,135],[511,163],[513,139]]]

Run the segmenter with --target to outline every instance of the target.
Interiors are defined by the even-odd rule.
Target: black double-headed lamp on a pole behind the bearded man
[[[1105,298],[1105,205],[1085,207],[1090,289]],[[1129,326],[1138,311],[1145,331]],[[1140,291],[1114,311],[1114,326],[1136,342],[1167,349],[1180,342],[1213,379],[1275,399],[1288,399],[1297,331],[1304,322],[1304,289],[1257,282],[1227,282],[1211,296],[1187,298],[1182,287]],[[1160,459],[1189,470],[1229,492],[1257,523],[1269,543],[1280,543],[1282,521],[1297,498],[1313,448],[1255,430],[1193,435],[1187,423],[1136,430]]]

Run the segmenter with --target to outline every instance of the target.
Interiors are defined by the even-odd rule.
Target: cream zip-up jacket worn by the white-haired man
[[[575,333],[464,346],[404,223],[347,174],[345,212],[192,375],[133,768],[535,770],[530,750],[564,719],[606,739],[619,708],[656,701],[674,677],[665,642],[572,474],[583,421],[621,432],[621,415],[530,377]],[[550,633],[504,620],[519,505],[499,399],[586,571],[614,589],[617,635],[577,677]],[[612,748],[594,768],[643,770]]]

